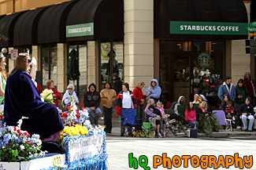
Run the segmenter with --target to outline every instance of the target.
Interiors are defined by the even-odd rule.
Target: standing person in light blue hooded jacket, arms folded
[[[158,80],[153,79],[150,82],[150,87],[147,88],[147,96],[150,97],[150,99],[154,99],[154,103],[157,103],[160,99],[161,95],[161,87],[158,85]]]

